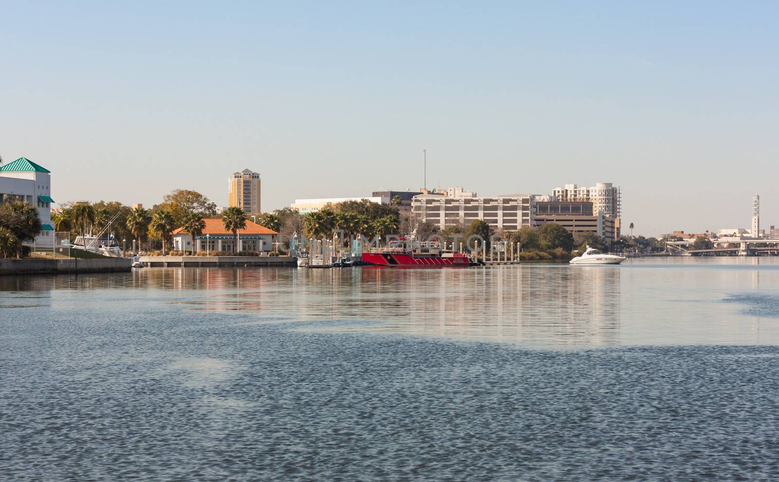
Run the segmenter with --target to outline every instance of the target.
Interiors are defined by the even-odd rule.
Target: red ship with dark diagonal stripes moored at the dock
[[[412,234],[412,239],[414,234]],[[388,248],[372,248],[362,253],[362,262],[374,266],[471,266],[475,264],[464,253],[442,252],[438,242],[411,243],[404,246],[404,238],[397,245]]]

